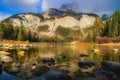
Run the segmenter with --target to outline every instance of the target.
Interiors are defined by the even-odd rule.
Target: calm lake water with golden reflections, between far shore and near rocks
[[[34,43],[34,46],[29,49],[10,49],[6,50],[11,53],[11,56],[23,65],[21,73],[11,73],[10,69],[4,70],[0,75],[0,80],[26,80],[23,75],[29,73],[32,64],[43,64],[42,59],[53,58],[55,59],[55,66],[60,69],[70,70],[69,75],[74,73],[81,73],[82,70],[78,67],[77,62],[80,61],[95,61],[95,67],[100,67],[100,62],[109,60],[120,62],[120,46],[119,45],[94,45],[79,43],[71,45],[69,43]],[[99,52],[93,52],[93,49],[99,49]],[[118,49],[115,52],[113,49]],[[19,56],[20,51],[25,51],[24,56]],[[80,54],[87,54],[88,57],[80,57]],[[69,63],[69,66],[67,64]],[[63,65],[65,64],[65,65]],[[8,65],[8,64],[7,64]],[[8,67],[7,67],[8,68]],[[50,67],[51,69],[53,68]],[[80,71],[80,72],[79,72]],[[89,70],[90,71],[90,70]],[[81,73],[82,74],[82,73]],[[30,80],[40,80],[39,77],[33,76]]]

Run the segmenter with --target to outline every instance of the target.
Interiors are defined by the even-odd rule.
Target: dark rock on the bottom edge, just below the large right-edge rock
[[[104,71],[99,68],[94,69],[93,73],[98,80],[116,80],[117,79],[117,77],[113,72]]]

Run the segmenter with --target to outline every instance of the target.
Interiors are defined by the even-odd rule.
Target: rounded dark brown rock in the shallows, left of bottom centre
[[[45,65],[34,65],[32,69],[32,74],[35,76],[40,76],[45,72],[50,71],[49,67]]]

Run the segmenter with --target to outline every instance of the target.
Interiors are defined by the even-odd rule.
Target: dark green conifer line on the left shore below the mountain
[[[25,27],[14,27],[10,23],[0,23],[0,37],[8,40],[19,40],[19,41],[38,41],[36,33],[31,32],[30,29]]]

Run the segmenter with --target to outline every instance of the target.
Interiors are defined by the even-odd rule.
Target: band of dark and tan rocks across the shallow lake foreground
[[[23,53],[21,52],[23,55]],[[1,57],[2,56],[2,57]],[[24,55],[23,55],[24,56]],[[80,58],[88,57],[81,54]],[[65,58],[65,57],[64,57]],[[35,80],[119,80],[120,63],[103,61],[71,61],[57,63],[54,58],[41,59],[41,63],[19,62],[9,52],[0,52],[0,76],[6,72],[19,79]],[[3,79],[5,80],[5,79]]]

